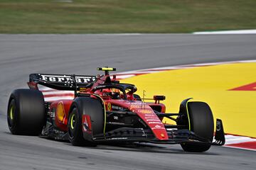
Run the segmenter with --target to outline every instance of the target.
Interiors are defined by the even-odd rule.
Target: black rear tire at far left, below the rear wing
[[[46,108],[41,91],[16,89],[11,93],[7,123],[14,135],[39,135],[46,124]]]

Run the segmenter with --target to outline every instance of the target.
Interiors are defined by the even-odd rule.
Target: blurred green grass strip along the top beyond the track
[[[255,8],[255,0],[0,0],[0,33],[253,29]]]

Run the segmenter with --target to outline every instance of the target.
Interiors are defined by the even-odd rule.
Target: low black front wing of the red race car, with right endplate
[[[224,145],[225,136],[221,120],[217,120],[214,142],[196,135],[191,130],[166,129],[169,140],[159,140],[154,137],[150,129],[118,128],[92,138],[95,142],[151,142],[159,144],[180,144],[198,142],[207,145]]]

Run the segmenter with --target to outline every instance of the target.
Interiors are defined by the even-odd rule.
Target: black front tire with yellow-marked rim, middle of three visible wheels
[[[104,132],[104,110],[99,98],[75,98],[68,118],[68,138],[74,146],[96,147],[97,142],[92,140],[93,135]],[[90,115],[92,132],[83,132],[82,115]]]

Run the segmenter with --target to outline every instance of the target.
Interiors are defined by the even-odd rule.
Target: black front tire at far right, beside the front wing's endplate
[[[203,137],[208,142],[213,141],[213,113],[207,103],[204,102],[188,102],[188,115],[191,131],[196,135]],[[198,142],[185,142],[181,147],[186,152],[206,152],[210,149],[210,144],[202,144]]]

